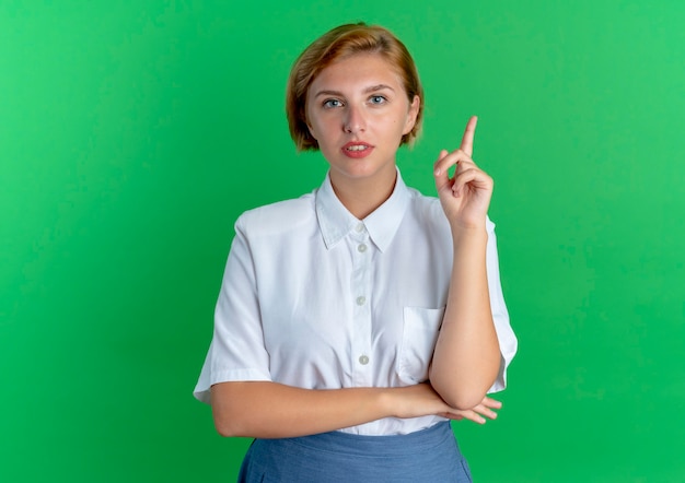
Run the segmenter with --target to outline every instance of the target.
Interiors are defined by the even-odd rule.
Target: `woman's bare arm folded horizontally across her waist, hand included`
[[[441,415],[477,423],[495,419],[499,403],[468,411],[450,408],[429,384],[405,388],[313,390],[270,381],[219,382],[211,387],[214,426],[222,436],[285,438],[369,423],[382,417]]]

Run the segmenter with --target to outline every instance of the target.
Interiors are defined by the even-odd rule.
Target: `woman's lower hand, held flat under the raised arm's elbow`
[[[398,396],[396,416],[403,419],[434,414],[455,421],[469,420],[477,424],[485,424],[487,420],[497,419],[496,410],[502,407],[500,401],[486,396],[474,408],[457,410],[444,402],[428,382],[408,386],[395,393]]]

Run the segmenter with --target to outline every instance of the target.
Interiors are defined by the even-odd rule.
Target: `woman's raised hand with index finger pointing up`
[[[466,125],[462,145],[451,153],[440,152],[433,175],[442,209],[452,227],[478,228],[485,220],[492,197],[492,178],[472,160],[477,117]],[[450,178],[449,169],[456,166]]]

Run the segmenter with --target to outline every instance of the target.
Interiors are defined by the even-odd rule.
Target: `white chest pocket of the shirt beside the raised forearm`
[[[405,307],[397,374],[403,382],[428,380],[428,366],[433,356],[444,307]]]

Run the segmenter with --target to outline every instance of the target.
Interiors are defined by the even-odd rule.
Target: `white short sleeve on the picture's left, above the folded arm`
[[[248,237],[239,219],[214,310],[214,330],[194,396],[209,403],[217,382],[270,380]]]

